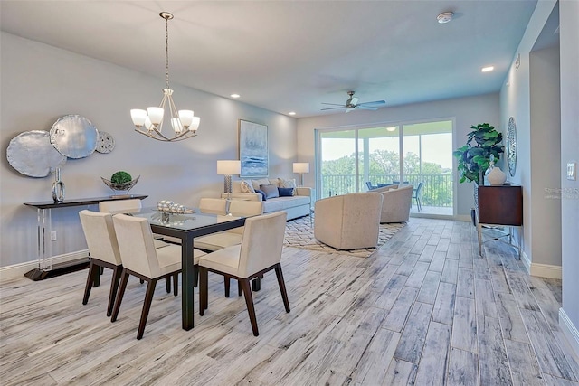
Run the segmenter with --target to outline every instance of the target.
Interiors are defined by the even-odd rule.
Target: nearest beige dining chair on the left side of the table
[[[177,295],[178,273],[181,271],[181,246],[167,245],[164,248],[155,249],[153,233],[145,218],[115,214],[113,223],[117,240],[119,241],[123,271],[111,321],[116,321],[119,316],[119,309],[127,288],[128,277],[133,275],[147,281],[147,293],[137,333],[137,339],[141,339],[145,332],[147,316],[153,301],[157,280],[173,277],[174,294],[175,296]],[[195,265],[198,264],[199,258],[204,256],[204,254],[201,250],[194,249],[194,256],[191,258]]]

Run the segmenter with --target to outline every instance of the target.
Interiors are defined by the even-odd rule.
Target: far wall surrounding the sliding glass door
[[[472,125],[488,122],[500,130],[498,94],[477,97],[446,99],[426,103],[417,103],[393,108],[380,108],[377,111],[354,111],[348,114],[332,114],[312,118],[298,119],[298,157],[301,162],[314,164],[315,140],[314,129],[327,127],[347,127],[354,125],[384,125],[403,121],[455,118],[455,131],[452,148],[463,146],[467,133]],[[456,160],[453,160],[456,170]],[[501,165],[501,164],[498,164]],[[458,181],[455,172],[455,180]],[[314,186],[315,175],[304,174],[304,184]],[[457,187],[456,214],[470,219],[470,208],[473,206],[472,184],[459,184]]]

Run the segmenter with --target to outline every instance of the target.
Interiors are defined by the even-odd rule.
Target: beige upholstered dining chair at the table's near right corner
[[[199,315],[204,315],[207,309],[208,271],[223,275],[224,278],[237,279],[241,283],[253,335],[259,335],[250,286],[253,278],[258,278],[274,269],[283,305],[286,312],[289,312],[288,294],[280,264],[286,218],[286,212],[272,212],[250,217],[245,221],[240,245],[216,250],[199,259]]]

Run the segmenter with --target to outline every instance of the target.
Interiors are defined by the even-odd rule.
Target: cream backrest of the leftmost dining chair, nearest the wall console
[[[79,212],[79,216],[90,256],[119,266],[121,264],[119,243],[112,214],[84,210]]]

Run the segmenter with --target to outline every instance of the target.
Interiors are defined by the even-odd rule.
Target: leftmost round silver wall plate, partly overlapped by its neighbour
[[[51,145],[50,134],[44,130],[25,131],[14,137],[6,149],[8,164],[29,177],[46,177],[66,163]]]

